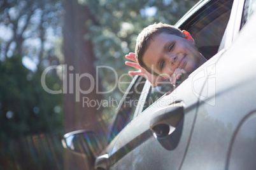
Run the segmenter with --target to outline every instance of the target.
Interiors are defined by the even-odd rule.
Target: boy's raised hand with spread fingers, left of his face
[[[145,77],[145,79],[147,79],[152,84],[152,87],[156,87],[160,85],[161,82],[166,81],[165,79],[162,79],[161,77],[157,77],[156,75],[152,75],[149,72],[147,72],[145,69],[143,69],[138,64],[135,58],[135,53],[129,53],[129,55],[125,55],[125,58],[133,61],[133,62],[125,62],[126,65],[139,69],[138,71],[129,72],[130,75],[141,75]]]

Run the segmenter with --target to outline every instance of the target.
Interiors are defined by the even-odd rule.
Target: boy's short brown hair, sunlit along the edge
[[[152,25],[149,25],[148,27],[143,29],[137,37],[135,48],[136,60],[138,61],[139,65],[149,73],[151,73],[152,70],[146,67],[145,63],[142,61],[142,57],[145,54],[145,51],[148,48],[150,41],[153,39],[153,37],[163,32],[166,34],[173,34],[175,36],[183,37],[180,29],[177,29],[173,25],[169,25],[166,23],[154,23]],[[155,72],[153,72],[153,74],[158,75]]]

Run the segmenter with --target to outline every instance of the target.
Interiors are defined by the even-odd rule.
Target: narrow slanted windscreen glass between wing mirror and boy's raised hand
[[[139,105],[139,96],[141,95],[145,82],[145,78],[138,77],[136,82],[132,85],[132,88],[129,90],[129,94],[122,99],[122,106],[115,117],[115,122],[111,129],[110,140],[115,138],[115,136],[117,136],[117,134],[132,121],[134,111],[136,110],[137,105]]]

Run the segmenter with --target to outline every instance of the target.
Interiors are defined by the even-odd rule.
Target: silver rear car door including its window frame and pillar
[[[256,167],[256,37],[250,32],[256,26],[256,16],[251,15],[255,6],[255,1],[234,1],[223,39],[224,52],[204,79],[182,169]],[[210,79],[215,80],[215,89],[209,91]]]

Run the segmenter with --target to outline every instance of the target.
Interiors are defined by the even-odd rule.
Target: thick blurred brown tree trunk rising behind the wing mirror
[[[101,129],[99,129],[100,126],[96,126],[96,122],[101,115],[101,110],[97,110],[97,105],[95,107],[87,104],[83,105],[83,98],[88,98],[89,101],[101,101],[101,95],[96,93],[96,68],[94,67],[95,57],[92,42],[86,41],[84,38],[89,31],[85,27],[85,22],[90,20],[90,10],[87,6],[78,4],[74,0],[65,0],[64,10],[64,56],[68,73],[66,81],[64,81],[64,83],[67,82],[67,93],[64,94],[65,130],[70,132],[78,129],[91,129],[99,132]],[[76,76],[82,74],[92,75],[95,85],[92,92],[87,95],[79,93],[80,97],[78,97],[76,94],[78,88],[88,91],[92,86],[88,77],[82,77],[80,84],[78,84]],[[76,88],[77,86],[78,88]],[[67,169],[91,169],[91,166],[93,166],[92,162],[88,164],[83,157],[73,154],[67,153],[66,160]]]

